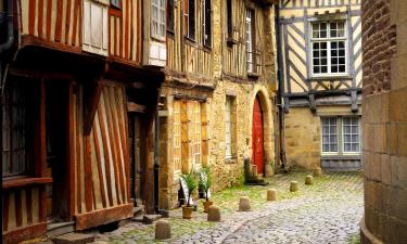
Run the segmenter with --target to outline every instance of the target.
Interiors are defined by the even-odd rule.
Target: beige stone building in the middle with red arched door
[[[260,176],[272,174],[277,89],[271,1],[168,1],[167,16],[160,111],[164,209],[178,206],[180,175],[192,168],[212,167],[213,191],[242,180],[244,157]]]

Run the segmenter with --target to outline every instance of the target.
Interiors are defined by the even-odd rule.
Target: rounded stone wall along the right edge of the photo
[[[365,0],[363,243],[407,240],[407,2]]]

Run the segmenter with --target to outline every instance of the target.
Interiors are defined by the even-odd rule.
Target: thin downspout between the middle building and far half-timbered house
[[[276,8],[275,8],[275,16],[276,16],[276,21],[275,21],[275,28],[276,28],[276,42],[277,42],[277,77],[278,77],[278,89],[277,89],[277,107],[278,107],[278,119],[279,119],[279,130],[280,130],[280,133],[279,133],[279,147],[280,147],[280,160],[281,160],[281,166],[282,166],[282,169],[285,168],[287,166],[287,159],[285,159],[285,143],[284,143],[284,140],[283,138],[285,137],[284,136],[284,107],[283,107],[283,104],[282,104],[282,87],[283,87],[283,77],[282,77],[282,55],[281,55],[281,29],[280,29],[280,12],[279,12],[279,5],[276,4]]]

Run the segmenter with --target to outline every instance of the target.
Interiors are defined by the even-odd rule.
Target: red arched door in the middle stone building
[[[257,98],[253,106],[252,149],[253,164],[257,166],[257,174],[263,175],[263,115]]]

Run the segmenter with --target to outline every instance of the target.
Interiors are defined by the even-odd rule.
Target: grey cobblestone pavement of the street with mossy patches
[[[206,215],[193,213],[182,220],[180,210],[170,211],[173,239],[158,243],[349,243],[359,231],[363,216],[363,178],[358,174],[327,174],[303,184],[306,174],[278,175],[268,187],[226,190],[213,200],[222,221],[206,222]],[[289,192],[291,180],[300,191]],[[277,202],[266,202],[266,190],[278,191]],[[249,195],[252,211],[237,211],[239,197]],[[127,224],[99,236],[110,243],[157,243],[154,226]]]

